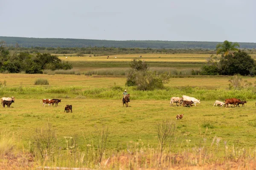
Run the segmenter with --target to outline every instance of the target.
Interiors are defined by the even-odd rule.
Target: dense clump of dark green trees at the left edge
[[[68,62],[61,61],[49,53],[29,54],[29,52],[10,52],[0,42],[0,72],[26,72],[29,74],[42,73],[44,69],[72,69]]]

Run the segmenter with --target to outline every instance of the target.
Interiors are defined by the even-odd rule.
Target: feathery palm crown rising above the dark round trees
[[[236,48],[236,46],[239,46],[239,43],[232,43],[228,40],[225,40],[223,43],[218,43],[216,46],[216,53],[220,54],[224,52],[224,55],[232,54],[231,51],[238,51],[239,49]]]

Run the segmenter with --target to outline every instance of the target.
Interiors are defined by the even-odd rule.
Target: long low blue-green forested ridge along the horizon
[[[155,49],[215,49],[217,43],[201,41],[159,41],[159,40],[87,40],[65,38],[1,37],[7,46],[20,47],[118,47]],[[256,48],[256,43],[239,43],[240,48]]]

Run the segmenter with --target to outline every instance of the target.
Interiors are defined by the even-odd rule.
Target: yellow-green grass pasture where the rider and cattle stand
[[[149,65],[155,66],[154,62],[158,63],[160,67],[157,68],[169,67],[175,62],[180,65],[177,68],[185,68],[190,62],[192,62],[191,68],[196,68],[198,65],[193,62],[201,64],[209,57],[208,55],[197,55],[194,58],[191,57],[192,55],[188,55],[187,58],[182,58],[180,55],[171,57],[161,55],[161,58],[155,58],[154,55],[142,56],[143,60],[148,60]],[[74,69],[83,71],[128,67],[128,63],[135,55],[112,59],[111,57],[109,59],[104,56],[60,58],[77,63]],[[115,59],[117,61],[112,62]],[[159,59],[163,60],[157,61]],[[1,83],[6,81],[6,86],[0,88],[1,96],[15,96],[15,103],[10,108],[0,108],[0,129],[2,133],[13,134],[17,150],[23,150],[24,147],[24,150],[36,152],[36,147],[33,145],[36,130],[51,124],[56,133],[56,147],[60,148],[62,153],[67,151],[65,137],[73,137],[76,139],[79,152],[88,151],[88,146],[94,146],[91,151],[93,154],[102,129],[108,129],[104,160],[113,153],[128,154],[128,148],[133,148],[137,153],[140,153],[138,150],[144,150],[154,157],[160,147],[157,124],[167,120],[175,126],[172,141],[167,144],[168,150],[173,154],[194,153],[195,148],[204,146],[210,148],[208,151],[214,155],[209,160],[223,162],[227,154],[236,153],[234,158],[237,158],[241,150],[246,150],[244,156],[250,156],[255,152],[256,94],[252,89],[240,91],[228,89],[228,76],[171,78],[165,89],[154,91],[138,91],[134,87],[125,87],[126,79],[122,75],[0,74],[0,77]],[[37,78],[46,78],[49,85],[34,85]],[[243,77],[243,80],[252,84],[255,82],[254,77]],[[124,89],[131,94],[129,107],[122,105]],[[169,106],[172,96],[182,95],[199,98],[201,104],[197,104],[196,107]],[[215,100],[224,101],[225,98],[233,97],[246,100],[247,104],[245,107],[235,108],[213,107]],[[58,107],[43,107],[40,103],[43,98],[62,100]],[[66,104],[72,104],[73,113],[64,113]],[[184,114],[184,117],[176,121],[177,114]],[[250,150],[252,152],[248,153]],[[205,156],[205,163],[207,158],[209,157]],[[212,163],[209,160],[208,163]],[[67,166],[63,162],[44,163]],[[92,164],[93,161],[86,165],[97,168]],[[198,163],[184,163],[183,166],[188,165],[194,166]],[[76,164],[69,166],[75,167]],[[81,163],[78,167],[84,167],[84,164]],[[148,167],[148,165],[143,164],[138,167]]]

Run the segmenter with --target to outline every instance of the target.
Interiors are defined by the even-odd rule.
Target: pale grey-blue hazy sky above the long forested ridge
[[[0,0],[0,36],[256,43],[256,0]]]

